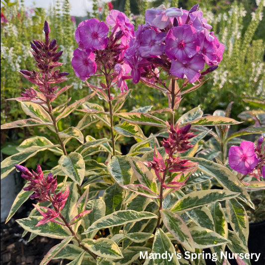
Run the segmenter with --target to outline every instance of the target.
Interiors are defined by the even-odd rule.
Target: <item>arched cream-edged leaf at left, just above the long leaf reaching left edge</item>
[[[48,140],[46,137],[43,136],[35,136],[35,137],[31,137],[28,138],[26,140],[24,140],[16,149],[19,152],[22,152],[23,150],[25,150],[26,148],[29,148],[31,146],[47,146],[47,145],[53,145],[53,143]],[[50,151],[59,154],[59,155],[63,155],[63,151],[61,149],[59,149],[58,147],[56,148],[49,148]]]

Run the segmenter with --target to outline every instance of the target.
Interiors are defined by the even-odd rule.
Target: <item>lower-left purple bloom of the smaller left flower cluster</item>
[[[93,52],[85,52],[79,48],[74,51],[72,66],[77,77],[85,81],[96,72],[95,55]]]

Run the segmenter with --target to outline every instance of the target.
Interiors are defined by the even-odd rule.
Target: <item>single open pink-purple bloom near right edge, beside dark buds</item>
[[[259,163],[254,143],[244,141],[240,146],[230,147],[228,162],[231,169],[241,174],[251,173]]]

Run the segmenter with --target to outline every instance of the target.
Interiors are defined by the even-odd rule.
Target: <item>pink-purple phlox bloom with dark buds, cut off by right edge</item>
[[[264,137],[258,140],[258,145],[249,141],[243,141],[240,146],[232,146],[228,153],[228,162],[231,169],[250,176],[265,178],[265,146],[262,151]]]

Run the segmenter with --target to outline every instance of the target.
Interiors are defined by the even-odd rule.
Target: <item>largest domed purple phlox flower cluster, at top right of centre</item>
[[[189,11],[161,5],[146,10],[146,24],[138,26],[125,52],[134,84],[140,78],[158,79],[158,71],[147,69],[150,65],[193,83],[205,63],[213,66],[222,60],[224,45],[208,31],[211,26],[197,8],[198,4]]]

